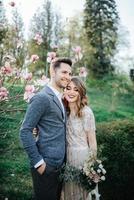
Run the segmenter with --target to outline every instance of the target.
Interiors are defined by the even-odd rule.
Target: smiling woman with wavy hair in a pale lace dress
[[[64,96],[68,112],[67,162],[80,168],[89,151],[95,156],[97,154],[94,114],[87,106],[86,89],[78,77],[71,79]],[[91,196],[75,183],[65,183],[62,199],[87,200],[91,199]]]

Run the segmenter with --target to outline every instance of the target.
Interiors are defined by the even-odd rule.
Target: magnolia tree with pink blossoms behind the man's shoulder
[[[11,1],[9,2],[9,6],[14,8],[16,4]],[[33,41],[37,46],[42,45],[42,33],[39,31],[35,33],[35,35],[33,35]],[[17,43],[16,48],[21,48],[21,45],[22,43]],[[19,108],[16,106],[17,102],[29,102],[30,98],[33,97],[41,87],[49,82],[49,65],[58,57],[58,50],[60,47],[53,46],[51,49],[53,51],[46,53],[45,73],[40,74],[40,76],[37,76],[37,74],[35,76],[35,74],[32,74],[29,70],[30,65],[36,68],[41,59],[36,51],[32,55],[26,55],[23,66],[18,66],[16,54],[14,55],[12,52],[9,52],[9,54],[5,53],[5,55],[3,55],[3,60],[0,66],[0,113],[23,110],[21,105]],[[77,70],[74,70],[76,73],[75,75],[86,80],[87,70],[84,66],[81,66],[81,60],[83,58],[81,47],[75,46],[70,52],[72,55],[73,66],[77,67]]]

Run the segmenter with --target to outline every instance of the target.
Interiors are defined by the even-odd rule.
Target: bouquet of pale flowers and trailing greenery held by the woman
[[[96,187],[97,183],[105,180],[105,174],[106,170],[102,165],[102,161],[90,154],[81,168],[66,163],[63,166],[60,178],[63,182],[75,182],[87,192],[90,192]]]

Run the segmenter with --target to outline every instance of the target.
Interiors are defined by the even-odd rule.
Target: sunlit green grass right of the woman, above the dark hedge
[[[89,105],[94,111],[96,122],[108,122],[118,119],[134,119],[134,87],[118,85],[112,87],[115,80],[108,83],[88,82],[87,93]]]

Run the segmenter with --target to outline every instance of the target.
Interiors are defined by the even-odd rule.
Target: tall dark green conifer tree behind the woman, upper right
[[[111,58],[118,38],[118,19],[114,0],[86,0],[84,26],[93,47],[90,69],[94,77],[102,78],[114,72]]]

